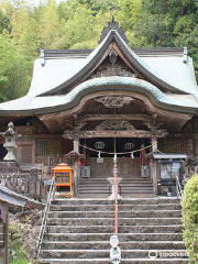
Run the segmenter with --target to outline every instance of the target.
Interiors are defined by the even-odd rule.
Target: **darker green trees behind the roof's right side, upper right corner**
[[[135,38],[144,46],[189,47],[198,76],[198,1],[142,0],[141,9]]]

